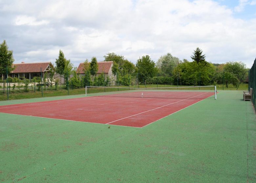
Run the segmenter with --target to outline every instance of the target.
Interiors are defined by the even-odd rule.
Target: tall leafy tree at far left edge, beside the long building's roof
[[[13,51],[8,50],[8,45],[6,41],[4,40],[0,44],[0,74],[6,74],[6,67],[8,70],[8,74],[14,70],[13,62],[14,58],[12,56]],[[2,78],[3,79],[3,78]]]

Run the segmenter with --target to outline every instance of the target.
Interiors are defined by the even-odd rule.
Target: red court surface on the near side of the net
[[[213,92],[203,93],[204,98]],[[168,99],[90,96],[0,106],[0,112],[43,118],[143,127],[204,98]]]

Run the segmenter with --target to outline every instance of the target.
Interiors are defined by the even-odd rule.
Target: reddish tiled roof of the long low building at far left
[[[37,62],[37,63],[18,63],[13,64],[15,69],[11,73],[39,73],[45,71],[45,69],[49,66],[49,64],[52,65],[51,62]]]

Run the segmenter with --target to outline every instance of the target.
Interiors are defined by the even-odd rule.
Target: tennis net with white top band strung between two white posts
[[[177,99],[217,99],[216,86],[128,88],[87,86],[86,96],[177,98]]]

